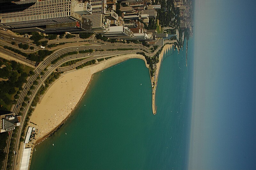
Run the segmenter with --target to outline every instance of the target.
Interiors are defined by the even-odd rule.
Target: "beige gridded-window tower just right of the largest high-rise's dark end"
[[[90,32],[104,33],[110,26],[110,20],[105,18],[102,13],[83,15],[83,18],[90,19],[92,21],[92,30]]]

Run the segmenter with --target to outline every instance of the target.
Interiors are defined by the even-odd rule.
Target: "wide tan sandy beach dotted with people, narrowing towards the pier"
[[[93,73],[114,66],[130,58],[140,58],[137,54],[116,56],[95,65],[61,74],[46,91],[30,117],[28,126],[37,129],[34,144],[39,143],[62,124],[84,96]],[[146,64],[148,67],[148,65]]]

